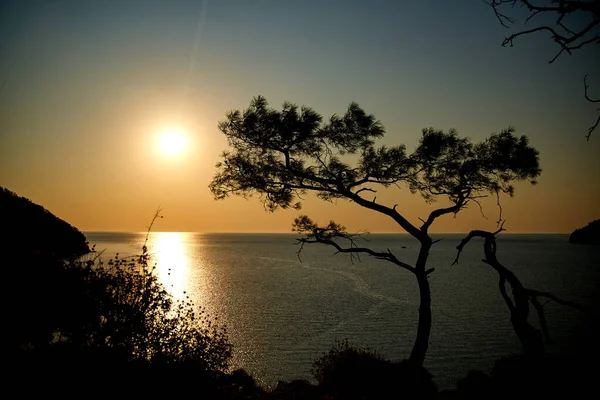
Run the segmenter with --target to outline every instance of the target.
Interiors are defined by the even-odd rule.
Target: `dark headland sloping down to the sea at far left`
[[[58,258],[89,253],[83,233],[44,207],[0,186],[2,253]]]

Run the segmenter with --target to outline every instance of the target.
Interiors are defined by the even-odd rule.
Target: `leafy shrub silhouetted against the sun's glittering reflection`
[[[174,300],[153,271],[145,247],[138,259],[88,263],[83,276],[94,311],[89,315],[98,313],[98,318],[91,324],[86,321],[83,332],[64,332],[65,340],[118,349],[128,361],[226,370],[231,345],[225,329],[213,325],[204,309],[196,311],[192,302]]]

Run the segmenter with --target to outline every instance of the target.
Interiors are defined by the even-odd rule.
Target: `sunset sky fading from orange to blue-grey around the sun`
[[[0,3],[0,186],[83,231],[289,232],[298,211],[257,199],[215,201],[208,184],[227,148],[218,121],[256,95],[328,118],[352,101],[382,143],[413,149],[424,127],[481,140],[514,125],[540,151],[539,185],[504,198],[508,232],[570,232],[600,217],[598,50],[548,61],[548,36],[503,48],[510,31],[481,0],[13,0]],[[596,46],[597,47],[597,46]],[[179,158],[156,150],[165,126],[189,132]],[[434,208],[382,195],[415,224]],[[431,231],[493,230],[495,200]],[[351,230],[401,232],[344,201],[306,213]]]

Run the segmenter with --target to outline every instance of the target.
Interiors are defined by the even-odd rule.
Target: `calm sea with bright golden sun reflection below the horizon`
[[[138,254],[146,234],[86,232],[109,259]],[[431,250],[433,330],[426,367],[440,388],[471,369],[489,370],[519,343],[482,263],[482,240],[471,241],[451,266],[461,235]],[[418,242],[407,235],[369,235],[373,249],[390,249],[414,263]],[[498,258],[530,288],[582,305],[596,303],[600,247],[572,245],[567,235],[500,235]],[[306,245],[301,260],[291,234],[151,233],[157,273],[175,297],[189,295],[227,325],[234,362],[266,386],[312,380],[313,360],[336,339],[368,346],[392,360],[406,358],[416,332],[418,290],[412,274],[362,256],[354,263],[324,245]],[[185,294],[184,294],[185,292]],[[554,352],[573,352],[591,332],[587,314],[545,306]],[[535,317],[532,317],[535,321]]]

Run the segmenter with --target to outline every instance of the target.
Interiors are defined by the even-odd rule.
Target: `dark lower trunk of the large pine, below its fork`
[[[430,248],[431,240],[421,242],[415,272],[419,284],[419,322],[417,325],[417,338],[408,360],[419,367],[422,367],[425,362],[425,355],[429,347],[429,335],[431,334],[431,289],[425,272]]]

